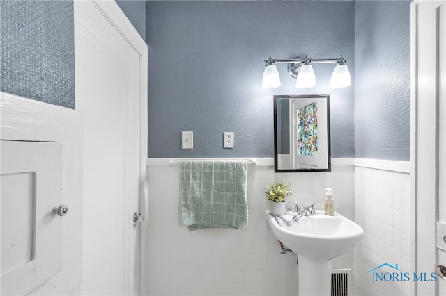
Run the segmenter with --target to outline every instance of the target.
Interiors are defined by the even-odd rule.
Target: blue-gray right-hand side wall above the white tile
[[[355,4],[355,156],[410,160],[410,1]]]

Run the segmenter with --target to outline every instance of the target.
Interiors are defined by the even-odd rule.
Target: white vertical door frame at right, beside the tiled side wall
[[[439,79],[436,10],[445,0],[411,3],[410,155],[411,206],[415,213],[416,272],[436,272],[436,222],[439,216]],[[433,143],[433,145],[426,145]],[[417,295],[438,295],[438,281],[415,282]]]

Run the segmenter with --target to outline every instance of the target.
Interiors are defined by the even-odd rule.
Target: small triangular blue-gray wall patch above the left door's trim
[[[130,20],[142,39],[146,41],[146,1],[116,0],[119,8]]]

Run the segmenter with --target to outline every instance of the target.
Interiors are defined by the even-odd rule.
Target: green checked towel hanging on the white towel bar
[[[246,161],[181,161],[180,227],[247,228]]]

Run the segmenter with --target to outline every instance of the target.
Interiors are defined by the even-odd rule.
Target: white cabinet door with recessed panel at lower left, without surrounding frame
[[[61,270],[62,145],[1,140],[1,294],[31,292]]]

